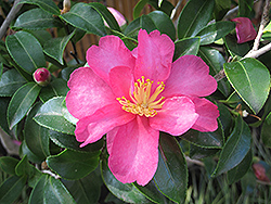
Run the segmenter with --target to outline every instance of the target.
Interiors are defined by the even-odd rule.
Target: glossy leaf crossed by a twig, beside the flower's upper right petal
[[[209,66],[211,76],[216,76],[223,68],[223,64],[225,63],[223,55],[214,48],[201,47],[198,55]],[[230,94],[231,85],[227,78],[218,81],[218,90],[223,93],[224,97]]]

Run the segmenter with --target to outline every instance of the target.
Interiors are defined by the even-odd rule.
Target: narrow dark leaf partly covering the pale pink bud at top
[[[100,15],[102,15],[105,20],[105,22],[108,24],[108,26],[112,29],[115,29],[117,31],[120,31],[120,27],[116,21],[116,18],[114,17],[114,15],[107,10],[107,8],[105,5],[103,5],[102,3],[96,3],[96,2],[91,2],[90,5],[92,8],[94,8]]]

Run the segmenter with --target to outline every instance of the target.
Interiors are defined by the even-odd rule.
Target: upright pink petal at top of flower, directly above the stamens
[[[175,43],[165,34],[158,30],[150,35],[146,30],[139,31],[139,46],[137,65],[134,68],[136,79],[145,76],[152,80],[166,80],[169,76]],[[136,51],[133,54],[136,54]]]

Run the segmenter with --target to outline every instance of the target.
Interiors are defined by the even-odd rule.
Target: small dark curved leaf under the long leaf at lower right
[[[237,182],[251,167],[251,162],[253,162],[253,152],[250,150],[237,166],[228,171],[227,177],[229,184]]]

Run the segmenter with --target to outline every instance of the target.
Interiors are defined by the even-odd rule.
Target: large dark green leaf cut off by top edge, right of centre
[[[179,39],[194,37],[210,21],[214,0],[190,0],[178,20]]]

